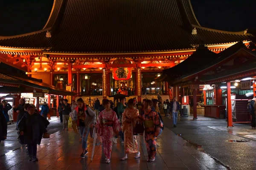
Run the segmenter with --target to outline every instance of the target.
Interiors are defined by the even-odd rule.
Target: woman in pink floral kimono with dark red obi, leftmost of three
[[[110,101],[104,99],[102,105],[105,110],[101,111],[98,116],[98,133],[102,137],[102,148],[106,156],[106,163],[110,163],[113,136],[119,134],[121,127],[116,113],[110,108]]]

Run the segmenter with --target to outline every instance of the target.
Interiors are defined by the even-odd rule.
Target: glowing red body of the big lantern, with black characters
[[[113,78],[115,80],[128,80],[131,79],[131,68],[113,68]]]

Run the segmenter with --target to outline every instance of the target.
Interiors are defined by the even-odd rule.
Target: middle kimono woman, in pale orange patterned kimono
[[[137,136],[133,132],[138,117],[139,110],[136,108],[136,100],[129,99],[128,108],[122,113],[122,131],[125,135],[125,156],[122,157],[122,161],[128,159],[128,153],[136,153],[135,158],[140,158]]]

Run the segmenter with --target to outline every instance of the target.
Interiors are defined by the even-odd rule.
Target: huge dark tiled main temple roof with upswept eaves
[[[197,34],[192,34],[194,28]],[[56,53],[162,52],[250,37],[246,31],[200,26],[190,0],[55,0],[42,30],[0,37],[0,47]]]

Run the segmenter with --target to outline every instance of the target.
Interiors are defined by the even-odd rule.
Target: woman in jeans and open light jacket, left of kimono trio
[[[74,113],[77,115],[76,123],[77,127],[79,127],[83,149],[80,157],[85,158],[85,156],[88,154],[87,139],[90,132],[90,125],[94,125],[96,123],[96,115],[90,107],[85,105],[82,98],[77,99],[76,102],[78,106],[75,108]]]

